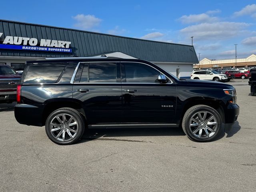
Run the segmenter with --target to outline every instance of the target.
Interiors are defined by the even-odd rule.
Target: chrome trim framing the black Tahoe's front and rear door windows
[[[102,82],[102,83],[100,83],[100,82],[80,83],[79,82],[79,83],[76,83],[76,82],[74,82],[75,77],[76,77],[76,73],[77,73],[78,68],[79,68],[81,63],[110,63],[110,62],[128,63],[128,61],[93,61],[93,62],[88,61],[88,62],[79,62],[78,65],[76,66],[76,69],[74,70],[74,73],[72,75],[70,83],[71,84],[159,84],[159,83],[127,83],[127,82],[124,82],[124,83],[122,83],[122,82],[120,82],[120,83],[116,83],[116,82]],[[140,63],[140,64],[145,64],[145,65],[150,66],[149,64],[142,63],[142,62],[129,61],[129,63]],[[150,67],[154,68],[153,66],[150,66]],[[154,69],[157,70],[158,72],[160,72],[158,69],[156,69],[156,68],[154,68]],[[163,74],[162,72],[160,72],[160,73]],[[166,75],[164,74],[164,76],[166,76]],[[166,84],[173,84],[172,80],[170,80],[169,77],[166,76],[166,78],[168,78],[168,80],[170,81],[170,83],[166,83]]]

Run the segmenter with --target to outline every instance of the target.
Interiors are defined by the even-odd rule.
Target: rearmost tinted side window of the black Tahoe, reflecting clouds
[[[24,83],[55,83],[66,63],[31,64],[23,80]]]

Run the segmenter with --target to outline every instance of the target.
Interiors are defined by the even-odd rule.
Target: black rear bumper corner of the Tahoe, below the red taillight
[[[14,115],[20,124],[42,126],[41,107],[28,104],[16,104],[14,107]]]

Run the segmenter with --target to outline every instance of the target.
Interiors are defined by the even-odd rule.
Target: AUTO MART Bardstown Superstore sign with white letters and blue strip
[[[0,38],[3,33],[0,33]],[[52,52],[72,52],[70,41],[36,38],[6,36],[0,44],[0,49],[32,50],[32,51],[52,51]]]

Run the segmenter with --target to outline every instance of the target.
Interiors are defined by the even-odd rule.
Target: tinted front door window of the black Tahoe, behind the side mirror
[[[124,63],[127,83],[155,83],[160,72],[142,63]]]

